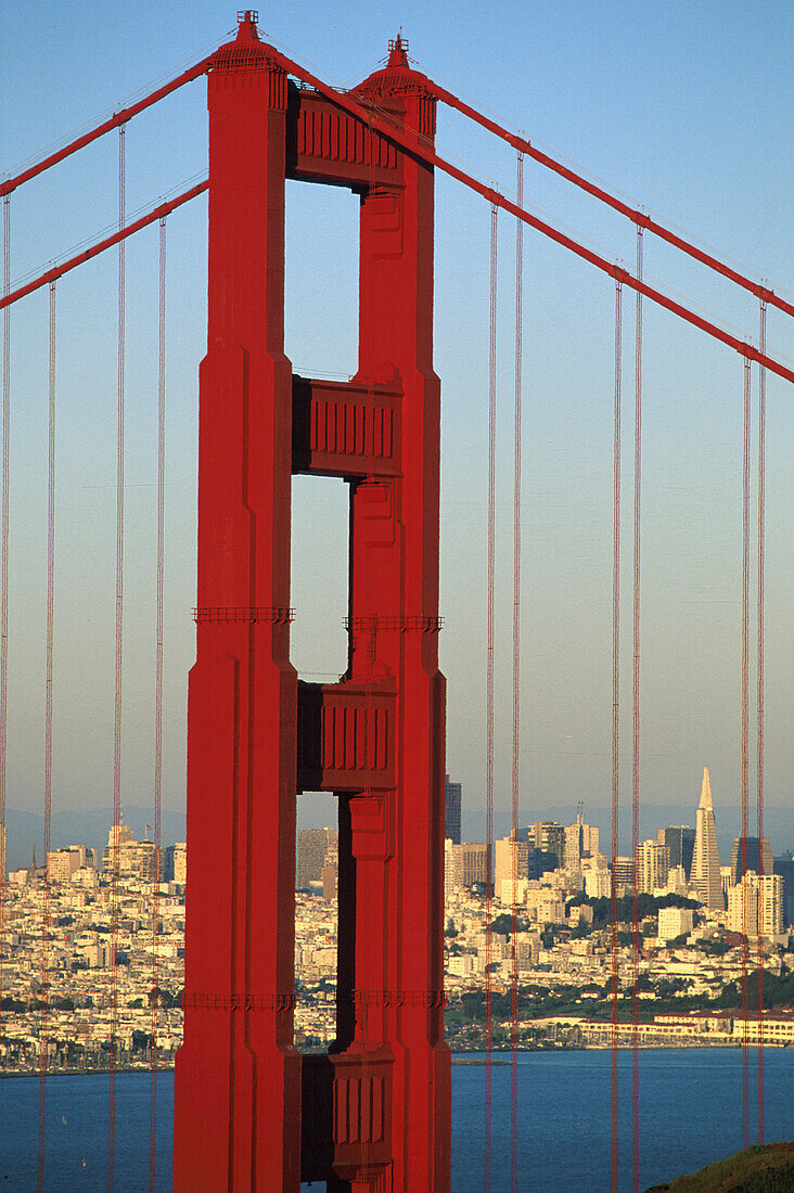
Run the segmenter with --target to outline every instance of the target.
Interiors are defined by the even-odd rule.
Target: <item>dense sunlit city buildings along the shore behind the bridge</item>
[[[634,857],[610,863],[598,829],[540,821],[487,846],[461,841],[461,787],[447,780],[447,1036],[456,1050],[510,1039],[518,977],[522,1047],[611,1043],[613,876],[618,903],[618,1037],[632,1038],[636,878],[636,1033],[642,1044],[767,1044],[794,1040],[790,1012],[794,858],[767,839],[735,837],[720,865],[708,771],[696,827],[660,827]],[[2,873],[5,876],[5,840]],[[116,965],[113,867],[118,861]],[[336,829],[300,830],[296,857],[295,1039],[304,1051],[334,1038],[337,979]],[[125,824],[111,827],[103,857],[87,846],[50,851],[4,885],[0,1067],[24,1073],[106,1068],[111,1021],[124,1067],[170,1065],[181,1043],[186,846],[158,851]],[[44,925],[48,925],[44,932]],[[490,929],[488,931],[488,926]],[[741,983],[755,999],[764,968],[764,1014],[741,1018]],[[487,978],[486,978],[487,973]],[[117,991],[113,1008],[113,989]]]

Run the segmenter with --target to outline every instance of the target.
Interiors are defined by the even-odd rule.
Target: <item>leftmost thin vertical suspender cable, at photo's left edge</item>
[[[11,199],[2,200],[2,292],[11,292]],[[2,497],[0,500],[0,834],[6,840],[6,746],[8,738],[8,482],[11,434],[11,307],[2,314]],[[5,848],[4,848],[5,854]],[[0,873],[0,942],[5,937],[5,863]],[[2,965],[0,965],[0,1019]]]

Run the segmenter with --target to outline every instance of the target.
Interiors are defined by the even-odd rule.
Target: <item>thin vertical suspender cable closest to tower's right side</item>
[[[494,623],[494,561],[497,508],[497,216],[491,205],[491,299],[488,334],[488,614],[486,661],[486,873],[485,873],[485,1191],[491,1191],[491,1050],[492,989],[491,989],[491,917],[493,880],[493,623]]]

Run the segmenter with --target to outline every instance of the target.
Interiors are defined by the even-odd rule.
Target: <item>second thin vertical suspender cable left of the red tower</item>
[[[125,223],[125,128],[118,126],[118,227]],[[118,245],[118,426],[116,458],[116,682],[113,705],[113,870],[111,879],[111,1020],[107,1189],[113,1191],[116,1160],[116,1064],[118,1050],[118,909],[122,823],[122,626],[124,611],[124,241]]]

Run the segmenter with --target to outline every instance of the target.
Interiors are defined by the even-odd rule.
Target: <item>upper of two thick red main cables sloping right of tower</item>
[[[554,157],[550,157],[548,154],[543,153],[542,149],[537,149],[534,144],[531,144],[531,142],[509,132],[507,129],[503,129],[500,124],[496,123],[496,120],[490,120],[487,116],[482,116],[482,113],[478,112],[476,109],[470,107],[451,92],[445,91],[444,87],[433,82],[432,79],[427,79],[427,84],[432,93],[436,95],[436,99],[439,99],[449,107],[454,107],[458,112],[462,112],[463,116],[468,116],[469,119],[474,120],[484,129],[487,129],[488,132],[493,132],[494,136],[506,141],[507,144],[513,147],[513,149],[518,149],[519,153],[525,153],[528,157],[533,157],[533,160],[540,162],[541,166],[546,166],[547,169],[554,171],[554,173],[559,174],[560,178],[565,178],[568,183],[573,183],[574,186],[578,186],[581,191],[586,191],[587,194],[592,194],[596,199],[599,199],[601,203],[605,203],[615,211],[620,211],[621,215],[630,220],[638,228],[647,228],[647,230],[652,231],[654,236],[658,236],[660,240],[665,240],[669,245],[681,249],[682,253],[687,253],[688,256],[700,261],[701,265],[708,266],[709,270],[715,270],[718,273],[721,273],[724,278],[728,278],[730,282],[734,282],[744,290],[749,290],[750,293],[756,295],[756,297],[762,298],[770,305],[777,307],[778,310],[786,311],[787,315],[794,315],[794,303],[787,302],[786,298],[781,298],[781,296],[776,295],[773,290],[769,290],[767,286],[762,286],[761,283],[745,277],[744,273],[739,273],[738,270],[726,265],[725,261],[718,260],[716,256],[712,256],[710,253],[706,253],[702,248],[697,248],[696,245],[684,240],[683,236],[678,236],[675,231],[671,231],[670,228],[665,228],[664,224],[652,220],[651,216],[645,215],[645,212],[638,211],[635,208],[623,203],[616,196],[610,194],[609,191],[604,191],[603,187],[597,186],[586,178],[583,178],[581,174],[577,174],[576,171],[571,169],[568,166],[564,166],[562,162],[556,161]]]

